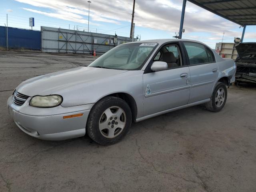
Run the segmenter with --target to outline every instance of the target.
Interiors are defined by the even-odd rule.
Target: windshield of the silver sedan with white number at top
[[[119,45],[100,56],[88,67],[140,70],[146,58],[148,58],[157,45],[157,43]]]

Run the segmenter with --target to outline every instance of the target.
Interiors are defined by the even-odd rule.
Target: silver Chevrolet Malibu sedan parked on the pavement
[[[84,136],[108,145],[139,122],[204,104],[218,112],[236,65],[207,45],[185,39],[121,44],[88,67],[22,82],[8,111],[26,134],[44,140]]]

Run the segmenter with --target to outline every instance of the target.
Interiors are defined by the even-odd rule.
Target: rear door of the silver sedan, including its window
[[[218,78],[218,64],[212,50],[200,43],[183,42],[188,56],[191,89],[188,103],[208,99]]]

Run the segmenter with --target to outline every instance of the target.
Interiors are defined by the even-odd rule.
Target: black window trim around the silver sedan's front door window
[[[156,55],[158,54],[158,52],[166,45],[177,45],[178,46],[178,49],[180,50],[180,54],[181,54],[181,59],[182,59],[182,66],[178,66],[178,67],[173,67],[173,68],[170,68],[170,69],[166,69],[164,71],[167,71],[167,70],[172,70],[172,69],[176,69],[176,68],[182,68],[182,67],[187,67],[187,58],[186,58],[186,52],[184,52],[184,47],[181,43],[181,41],[171,41],[171,42],[166,42],[164,44],[162,44],[162,46],[160,46],[158,48],[158,50],[155,52],[154,56],[152,57],[152,59],[150,60],[150,62],[148,62],[148,66],[146,66],[145,70],[144,70],[144,74],[146,73],[153,73],[154,71],[151,70],[151,65],[153,64],[154,62],[154,58],[156,57]]]

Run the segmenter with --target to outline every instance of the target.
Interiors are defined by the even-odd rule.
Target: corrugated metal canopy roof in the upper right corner
[[[241,26],[256,25],[256,0],[188,0]]]

